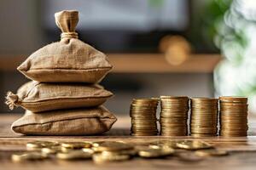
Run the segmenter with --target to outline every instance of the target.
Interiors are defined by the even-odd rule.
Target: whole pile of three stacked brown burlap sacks
[[[105,54],[78,39],[78,21],[78,11],[56,13],[61,41],[38,49],[17,68],[32,82],[6,97],[10,109],[26,110],[12,124],[16,133],[91,135],[107,132],[116,122],[102,106],[113,94],[96,84],[112,65]]]

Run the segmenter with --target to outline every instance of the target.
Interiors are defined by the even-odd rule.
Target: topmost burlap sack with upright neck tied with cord
[[[61,42],[38,49],[17,70],[38,82],[100,82],[112,65],[105,54],[78,39],[78,21],[78,11],[56,13]]]

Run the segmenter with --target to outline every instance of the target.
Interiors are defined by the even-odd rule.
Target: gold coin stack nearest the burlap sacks
[[[131,135],[157,135],[156,110],[159,99],[133,99],[131,103]]]

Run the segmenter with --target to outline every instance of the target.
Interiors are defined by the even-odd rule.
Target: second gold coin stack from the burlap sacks
[[[164,136],[188,134],[189,98],[187,96],[160,96],[160,133]]]

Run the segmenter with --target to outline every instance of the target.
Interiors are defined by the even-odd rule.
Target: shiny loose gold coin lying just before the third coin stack
[[[183,142],[178,142],[177,147],[185,150],[202,150],[212,148],[212,145],[201,140],[184,140]]]

